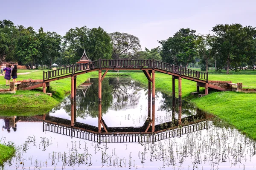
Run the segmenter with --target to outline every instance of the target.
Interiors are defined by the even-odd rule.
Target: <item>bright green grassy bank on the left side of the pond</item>
[[[88,77],[96,72],[77,76],[77,85],[84,82]],[[29,74],[19,75],[17,80],[42,79],[43,71],[38,70]],[[5,85],[5,79],[0,79],[0,84]],[[50,110],[57,105],[64,97],[70,93],[71,79],[61,79],[50,82],[51,91],[55,91],[52,97],[42,93],[41,89],[33,91],[16,91],[16,94],[0,95],[0,114],[9,112],[4,109],[9,108],[37,108],[38,110]],[[1,86],[0,86],[1,88]],[[24,111],[24,109],[23,109]]]

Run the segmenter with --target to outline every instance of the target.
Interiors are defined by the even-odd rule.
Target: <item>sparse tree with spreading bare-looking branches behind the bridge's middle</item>
[[[113,59],[136,59],[141,50],[140,40],[134,35],[120,32],[109,34],[113,44]]]

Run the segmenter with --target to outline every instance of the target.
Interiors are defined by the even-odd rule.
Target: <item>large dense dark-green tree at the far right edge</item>
[[[247,59],[255,28],[243,27],[241,24],[218,24],[212,28],[212,31],[216,34],[215,49],[220,59],[226,62],[226,70],[229,74],[230,65],[236,68]]]

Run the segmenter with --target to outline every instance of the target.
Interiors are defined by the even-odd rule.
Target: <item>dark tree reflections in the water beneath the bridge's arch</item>
[[[76,90],[76,116],[85,119],[88,116],[98,116],[98,78],[90,79],[90,87],[86,90],[83,86]],[[128,78],[104,78],[102,81],[102,115],[109,109],[114,111],[133,108],[140,99],[140,90],[145,88]],[[86,93],[84,95],[84,91]],[[70,115],[70,97],[56,107],[54,111],[63,108]]]

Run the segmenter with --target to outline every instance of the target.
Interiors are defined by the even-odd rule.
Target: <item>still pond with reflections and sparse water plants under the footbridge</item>
[[[255,141],[186,101],[178,125],[172,96],[160,91],[155,102],[159,133],[121,133],[142,130],[148,119],[148,88],[128,78],[102,82],[102,119],[120,133],[92,133],[98,128],[97,81],[77,88],[73,127],[70,96],[43,115],[0,117],[0,142],[17,150],[3,169],[256,169]]]

